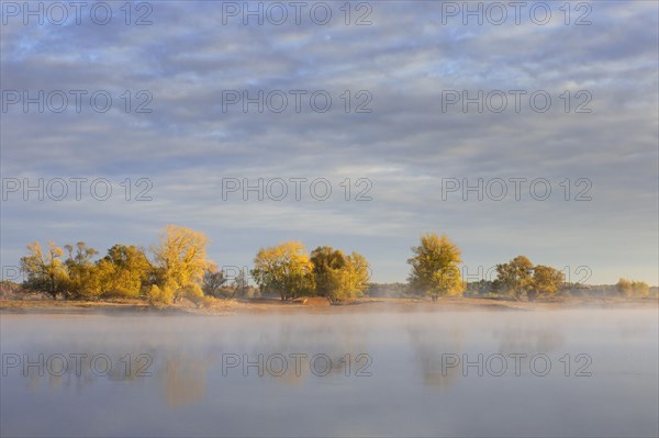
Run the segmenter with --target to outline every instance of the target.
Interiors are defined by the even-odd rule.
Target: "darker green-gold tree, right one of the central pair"
[[[369,280],[366,258],[358,252],[344,255],[328,246],[311,252],[316,293],[332,304],[361,296]]]

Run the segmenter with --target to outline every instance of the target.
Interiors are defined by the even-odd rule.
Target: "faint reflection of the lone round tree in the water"
[[[462,375],[461,363],[442,371],[442,355],[458,355],[462,360],[462,329],[438,327],[437,324],[415,322],[407,324],[414,362],[421,367],[423,381],[428,386],[446,389]]]

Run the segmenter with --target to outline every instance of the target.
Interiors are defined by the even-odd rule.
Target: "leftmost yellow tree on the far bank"
[[[48,243],[45,255],[38,242],[27,245],[27,250],[30,254],[21,258],[21,269],[26,276],[25,288],[57,299],[59,293],[66,291],[68,283],[68,273],[62,261],[64,250],[54,242]]]

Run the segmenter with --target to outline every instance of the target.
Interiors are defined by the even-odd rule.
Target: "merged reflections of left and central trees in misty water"
[[[40,353],[47,360],[52,355],[64,355],[69,363],[67,371],[62,377],[53,375],[45,370],[38,375],[38,370],[31,368],[25,375],[27,385],[32,391],[46,388],[48,391],[56,389],[72,389],[81,393],[85,388],[101,381],[135,383],[155,382],[163,390],[164,400],[169,405],[179,406],[193,403],[204,397],[210,372],[215,372],[224,379],[221,368],[222,355],[234,353],[241,357],[248,355],[255,360],[259,353],[267,360],[270,355],[282,355],[288,360],[288,370],[283,375],[272,375],[264,372],[263,377],[278,384],[300,385],[308,379],[315,379],[310,370],[313,355],[327,355],[332,360],[331,373],[317,379],[343,379],[347,372],[345,356],[350,355],[350,375],[359,364],[355,359],[359,353],[368,353],[367,336],[372,327],[362,319],[344,319],[340,317],[300,317],[286,318],[246,318],[239,322],[214,321],[202,318],[168,319],[161,324],[160,319],[146,319],[136,322],[129,318],[116,325],[112,322],[111,328],[104,324],[96,325],[97,319],[89,319],[91,324],[65,326],[53,329],[48,335],[35,338],[24,337],[30,351],[20,350],[21,360],[24,353],[31,359]],[[107,329],[107,330],[105,330]],[[74,359],[69,353],[83,353],[76,373],[72,367]],[[92,372],[91,360],[94,355],[107,355],[112,360],[112,368],[107,375]],[[301,372],[295,373],[294,359],[291,353],[305,353],[301,361]],[[126,367],[125,360],[130,355],[131,364]],[[137,362],[139,355],[148,355],[152,362],[147,369],[152,375],[139,375],[138,371],[144,362]],[[102,366],[102,361],[100,362]],[[324,361],[317,362],[319,368]],[[22,368],[15,369],[16,375],[22,375]],[[126,372],[127,371],[127,372]],[[235,373],[233,372],[235,371]],[[322,371],[322,370],[321,370]],[[253,368],[249,377],[243,377],[242,366],[232,370],[226,379],[263,379]],[[46,386],[43,383],[46,382]]]

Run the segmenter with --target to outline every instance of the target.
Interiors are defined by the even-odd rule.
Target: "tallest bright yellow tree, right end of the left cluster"
[[[160,297],[171,294],[172,301],[186,296],[198,303],[203,297],[200,284],[203,272],[210,266],[206,260],[205,234],[177,225],[168,225],[160,234],[160,243],[154,248],[157,265],[157,287],[150,295]]]

